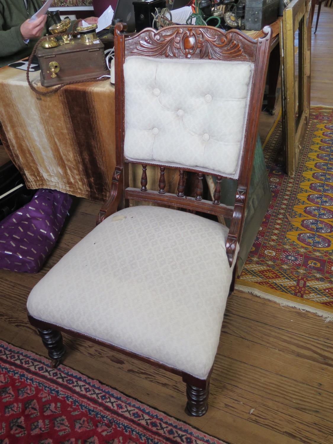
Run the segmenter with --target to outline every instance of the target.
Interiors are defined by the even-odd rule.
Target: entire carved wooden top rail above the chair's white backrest
[[[118,28],[116,28],[116,32]],[[125,41],[125,57],[170,59],[240,60],[254,62],[257,42],[237,30],[227,32],[210,26],[147,28]]]

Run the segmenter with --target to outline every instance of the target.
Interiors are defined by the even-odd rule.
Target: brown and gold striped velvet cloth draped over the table
[[[40,72],[31,72],[30,79],[40,85]],[[108,198],[115,167],[114,99],[109,79],[42,96],[30,90],[25,71],[0,69],[0,139],[28,188]]]

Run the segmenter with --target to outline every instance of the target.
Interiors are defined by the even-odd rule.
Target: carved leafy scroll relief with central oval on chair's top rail
[[[163,28],[163,31],[167,28]],[[202,28],[177,28],[170,34],[149,30],[131,52],[145,56],[190,58],[199,51],[200,59],[247,59],[241,45],[233,40],[231,33]]]

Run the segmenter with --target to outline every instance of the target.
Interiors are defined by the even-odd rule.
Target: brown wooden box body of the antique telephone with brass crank
[[[85,80],[109,74],[101,41],[85,44],[79,39],[75,43],[63,44],[56,48],[37,48],[40,64],[40,82],[43,86],[54,86],[71,81]],[[52,78],[50,63],[56,62],[59,71]],[[53,75],[54,75],[53,74]]]

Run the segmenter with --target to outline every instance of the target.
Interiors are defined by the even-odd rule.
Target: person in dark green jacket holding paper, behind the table
[[[41,7],[41,0],[0,0],[0,67],[30,56],[37,40],[54,23],[46,15],[29,22]],[[84,20],[93,24],[98,18]]]

